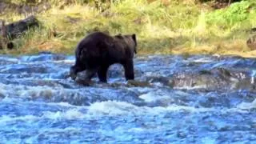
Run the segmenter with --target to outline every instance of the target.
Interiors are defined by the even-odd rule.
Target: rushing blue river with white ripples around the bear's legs
[[[0,143],[255,143],[256,59],[150,55],[108,84],[68,78],[73,56],[0,55]]]

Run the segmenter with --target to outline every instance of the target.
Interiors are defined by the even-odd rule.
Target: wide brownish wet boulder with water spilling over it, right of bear
[[[174,88],[203,89],[203,90],[252,90],[255,82],[252,74],[246,70],[232,70],[222,67],[199,72],[174,74]]]

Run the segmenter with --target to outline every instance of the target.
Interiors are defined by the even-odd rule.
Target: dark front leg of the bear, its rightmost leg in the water
[[[126,80],[134,80],[134,61],[129,59],[122,64],[125,69]]]

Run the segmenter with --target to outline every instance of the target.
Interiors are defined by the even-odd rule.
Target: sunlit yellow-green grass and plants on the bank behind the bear
[[[82,0],[69,5],[50,2],[49,10],[36,14],[39,28],[14,39],[15,50],[1,53],[74,54],[78,41],[101,30],[112,35],[137,34],[138,54],[256,55],[256,50],[246,46],[251,28],[256,27],[254,0],[234,2],[219,10],[197,0],[116,0],[102,3],[102,7]],[[0,14],[6,22],[23,18],[25,14],[11,10]]]

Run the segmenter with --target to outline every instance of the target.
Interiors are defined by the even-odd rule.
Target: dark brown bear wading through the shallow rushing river
[[[134,79],[134,53],[137,54],[136,35],[118,34],[114,37],[94,32],[83,38],[75,50],[75,64],[70,68],[70,77],[75,80],[78,72],[86,70],[86,82],[98,74],[106,81],[109,66],[120,63],[124,67],[126,80]]]

